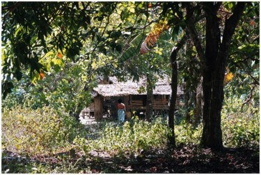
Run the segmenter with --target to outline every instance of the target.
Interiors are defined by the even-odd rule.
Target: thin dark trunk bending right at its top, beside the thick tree
[[[174,132],[174,112],[175,103],[177,99],[177,52],[180,50],[182,45],[184,45],[187,36],[184,35],[176,47],[173,47],[171,52],[171,104],[168,112],[168,127],[171,128],[171,135],[168,136],[168,144],[175,146],[175,132]]]

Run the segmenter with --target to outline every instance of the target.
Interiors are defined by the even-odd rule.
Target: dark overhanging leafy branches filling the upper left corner
[[[59,70],[63,65],[53,60],[56,53],[77,61],[83,45],[90,40],[96,46],[89,47],[89,54],[94,54],[96,49],[107,52],[100,45],[120,51],[120,44],[115,45],[116,40],[111,40],[119,34],[106,28],[116,6],[118,3],[111,2],[2,3],[3,97],[13,89],[12,79],[22,78],[22,70],[29,70],[32,79],[40,79],[40,73],[49,72],[49,62],[43,62],[43,57],[48,57]],[[100,31],[98,27],[104,29]],[[89,54],[85,54],[85,59],[90,59]]]

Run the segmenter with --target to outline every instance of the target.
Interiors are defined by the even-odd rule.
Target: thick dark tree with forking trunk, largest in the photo
[[[203,136],[202,144],[213,149],[223,149],[221,132],[221,108],[223,102],[223,79],[228,61],[230,42],[245,3],[238,2],[232,9],[232,15],[225,21],[223,33],[220,31],[220,17],[217,13],[221,2],[205,2],[203,6],[206,18],[205,52],[198,38],[193,19],[194,9],[186,3],[187,29],[200,56],[203,73]]]

